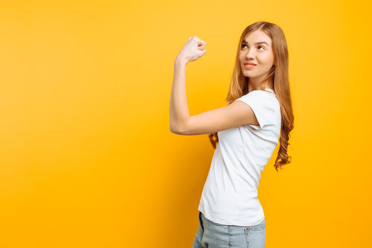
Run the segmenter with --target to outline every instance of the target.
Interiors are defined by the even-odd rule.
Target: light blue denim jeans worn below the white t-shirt
[[[199,211],[199,227],[192,248],[264,248],[265,219],[254,226],[220,225]]]

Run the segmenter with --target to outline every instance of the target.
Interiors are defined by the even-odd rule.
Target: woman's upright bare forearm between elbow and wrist
[[[187,62],[184,59],[174,61],[173,85],[169,103],[169,121],[172,132],[182,130],[190,116],[186,96],[186,65]]]

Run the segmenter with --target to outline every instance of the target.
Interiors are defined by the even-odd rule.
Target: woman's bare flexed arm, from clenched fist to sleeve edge
[[[196,135],[227,130],[238,125],[259,125],[251,107],[242,101],[234,101],[226,107],[190,116],[185,86],[186,65],[205,53],[200,52],[205,47],[205,43],[200,41],[197,37],[190,37],[174,61],[174,77],[169,103],[170,131],[174,134]]]

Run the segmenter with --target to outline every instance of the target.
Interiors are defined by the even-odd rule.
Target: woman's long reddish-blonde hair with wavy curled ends
[[[293,130],[293,110],[291,102],[291,93],[289,89],[288,76],[288,49],[285,34],[282,29],[273,23],[267,21],[258,21],[249,25],[242,32],[238,45],[238,52],[236,54],[236,62],[234,72],[231,77],[229,93],[227,94],[227,105],[233,103],[240,96],[248,94],[248,78],[242,74],[240,68],[239,54],[242,47],[242,41],[248,34],[260,30],[265,32],[270,38],[273,49],[274,64],[269,73],[258,85],[259,90],[265,90],[269,85],[272,85],[273,90],[280,102],[280,112],[282,116],[282,125],[280,129],[279,151],[274,167],[276,171],[278,168],[282,169],[283,165],[291,163],[291,156],[287,154],[288,141],[290,138],[289,132]],[[218,143],[218,133],[209,134],[211,145],[216,149]]]

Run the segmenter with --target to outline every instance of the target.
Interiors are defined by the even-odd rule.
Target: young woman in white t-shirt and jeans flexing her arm
[[[291,161],[287,147],[293,111],[285,35],[273,23],[249,25],[240,37],[227,106],[190,116],[186,65],[205,54],[205,45],[190,37],[176,57],[169,105],[173,133],[209,134],[215,149],[193,247],[265,247],[265,216],[257,198],[260,174],[279,141],[274,167],[278,171]]]

